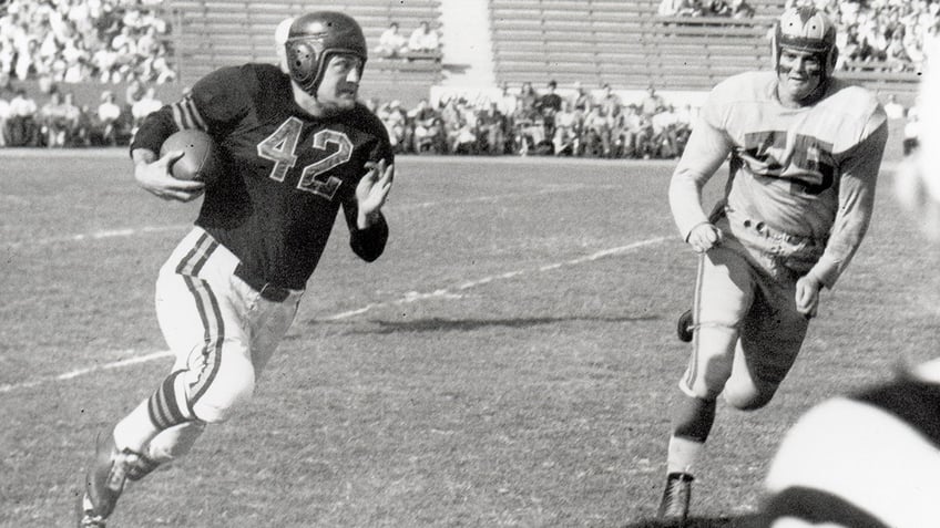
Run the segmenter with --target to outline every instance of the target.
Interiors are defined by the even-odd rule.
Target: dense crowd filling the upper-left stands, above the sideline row
[[[0,72],[55,83],[176,79],[163,0],[9,0],[0,6]]]

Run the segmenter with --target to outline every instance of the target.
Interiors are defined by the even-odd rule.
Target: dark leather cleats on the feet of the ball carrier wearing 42
[[[80,505],[79,527],[104,527],[114,511],[124,484],[139,480],[154,470],[159,463],[131,449],[117,451],[113,437],[99,435],[95,439],[94,463],[85,475],[84,495]]]

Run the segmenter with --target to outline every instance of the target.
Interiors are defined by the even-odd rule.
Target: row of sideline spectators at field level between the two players
[[[531,83],[503,85],[497,97],[452,96],[413,108],[372,101],[399,153],[554,155],[601,158],[672,158],[688,137],[692,108],[667,104],[650,87],[626,104],[605,84],[575,85],[569,96],[554,81],[539,93]]]

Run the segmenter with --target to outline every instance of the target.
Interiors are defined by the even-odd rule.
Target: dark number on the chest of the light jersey
[[[745,151],[754,158],[767,163],[768,168],[772,170],[780,170],[784,167],[774,157],[770,148],[783,151],[786,148],[786,132],[766,131],[745,135]],[[794,194],[819,195],[831,187],[835,182],[836,169],[825,162],[827,157],[831,157],[831,144],[821,142],[813,136],[797,134],[794,137],[791,158],[794,166],[806,172],[816,173],[819,176],[813,180],[809,178],[790,179],[790,191]]]

